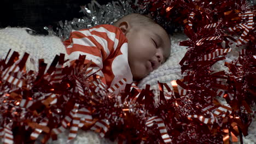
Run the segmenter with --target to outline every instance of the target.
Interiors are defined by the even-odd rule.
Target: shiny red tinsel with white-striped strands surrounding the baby
[[[63,67],[63,55],[56,56],[48,70],[40,59],[38,72],[27,72],[28,55],[19,60],[14,52],[8,62],[0,61],[4,143],[45,143],[66,129],[69,140],[78,129],[91,129],[127,143],[229,143],[247,135],[255,113],[255,8],[234,0],[137,4],[143,13],[164,20],[164,27],[173,21],[183,25],[190,38],[181,42],[188,46],[180,62],[184,79],[171,81],[172,87],[159,82],[156,97],[149,85],[142,91],[126,85],[115,95],[96,76],[86,75],[90,64],[83,64],[83,56],[71,67]],[[225,63],[229,73],[212,71],[232,49],[241,51]]]

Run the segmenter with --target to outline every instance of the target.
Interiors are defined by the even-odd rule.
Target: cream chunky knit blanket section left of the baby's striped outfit
[[[38,59],[44,58],[49,65],[56,55],[64,53],[65,46],[56,36],[32,35],[27,32],[28,28],[4,28],[0,29],[0,58],[5,58],[9,49],[20,54],[20,58],[27,52],[30,54],[26,63],[27,70],[38,70]],[[32,31],[30,31],[32,32]]]

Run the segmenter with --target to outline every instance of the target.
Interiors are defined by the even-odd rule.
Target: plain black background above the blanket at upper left
[[[29,27],[46,34],[44,26],[56,26],[60,20],[81,17],[80,5],[91,0],[1,0],[0,27]],[[110,0],[97,0],[107,4]]]

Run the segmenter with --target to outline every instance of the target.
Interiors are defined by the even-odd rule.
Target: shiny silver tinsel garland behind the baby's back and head
[[[121,17],[136,13],[135,9],[131,8],[132,1],[113,1],[106,5],[100,5],[97,1],[93,0],[91,3],[81,6],[80,13],[84,13],[81,18],[74,18],[72,21],[59,21],[59,27],[56,31],[52,27],[44,27],[49,35],[56,35],[62,40],[68,39],[69,33],[74,30],[90,28],[97,25],[109,24],[112,25]]]

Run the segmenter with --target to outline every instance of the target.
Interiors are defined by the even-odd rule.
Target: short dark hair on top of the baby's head
[[[127,20],[131,22],[131,25],[152,25],[152,24],[157,24],[150,16],[148,15],[141,15],[141,14],[129,14],[121,19],[119,19],[117,22],[114,23],[114,26],[117,26],[120,24],[120,22]]]

